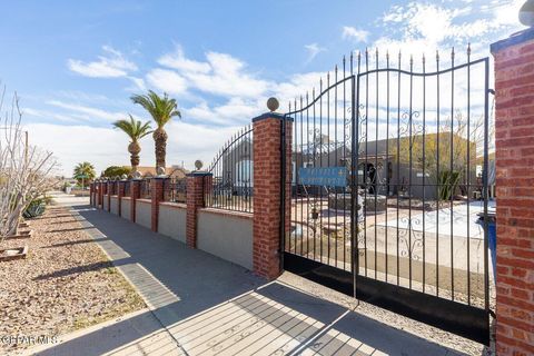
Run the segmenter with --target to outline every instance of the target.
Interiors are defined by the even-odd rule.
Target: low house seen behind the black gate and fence
[[[436,142],[439,141],[439,155],[437,155]],[[449,170],[449,142],[451,134],[442,132],[439,137],[436,134],[425,135],[425,174],[423,176],[423,135],[402,137],[400,139],[390,138],[388,140],[367,141],[360,144],[358,155],[358,181],[363,185],[364,179],[367,182],[368,191],[374,194],[375,189],[380,195],[404,195],[415,198],[434,199],[436,197],[436,161],[439,161],[439,169]],[[412,144],[412,162],[409,160],[409,147]],[[459,136],[453,136],[453,170],[463,172],[462,184],[465,185],[467,175],[467,146],[469,145],[469,175],[471,190],[476,189],[476,144],[468,142]],[[293,152],[293,182],[298,179],[298,169],[300,167],[349,167],[352,161],[350,145],[344,142],[328,141],[322,139],[317,145],[304,145],[296,147]],[[434,159],[433,159],[434,156]],[[437,157],[442,156],[442,157]],[[461,156],[459,158],[456,156]],[[253,187],[253,142],[244,140],[233,147],[231,150],[224,152],[222,169],[214,171],[214,178],[221,186],[226,187]],[[411,182],[412,180],[412,182]],[[424,191],[423,191],[424,189]],[[313,192],[317,189],[308,187],[307,191]],[[334,191],[334,189],[328,189]],[[236,194],[235,191],[235,194]],[[466,194],[466,190],[457,194]],[[471,194],[472,196],[472,194]]]

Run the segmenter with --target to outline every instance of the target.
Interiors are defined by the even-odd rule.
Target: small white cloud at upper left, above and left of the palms
[[[119,78],[126,77],[130,71],[136,71],[137,66],[127,60],[122,53],[110,46],[103,46],[103,56],[98,56],[97,61],[83,62],[69,59],[67,65],[76,73],[91,78]]]

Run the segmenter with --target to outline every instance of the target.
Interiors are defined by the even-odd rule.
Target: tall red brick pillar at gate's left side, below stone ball
[[[280,140],[284,116],[269,112],[253,119],[254,123],[254,271],[268,279],[281,273],[280,199],[281,155]],[[286,118],[286,221],[289,230],[291,127]]]

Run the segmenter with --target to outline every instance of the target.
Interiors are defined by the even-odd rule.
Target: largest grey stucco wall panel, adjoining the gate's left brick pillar
[[[198,211],[197,247],[253,269],[253,215],[217,209]]]

